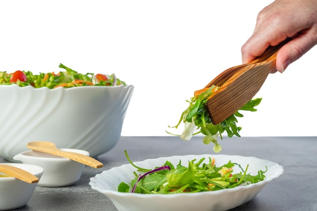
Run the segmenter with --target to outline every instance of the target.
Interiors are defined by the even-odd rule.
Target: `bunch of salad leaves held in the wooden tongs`
[[[257,111],[254,107],[260,104],[262,98],[249,101],[224,121],[215,125],[211,121],[206,108],[206,103],[211,95],[218,89],[219,87],[213,85],[210,88],[196,91],[194,97],[192,97],[190,101],[187,101],[189,106],[182,112],[178,123],[175,126],[169,126],[169,128],[177,129],[181,123],[184,123],[183,133],[181,135],[172,134],[168,131],[167,133],[180,136],[180,138],[185,141],[189,141],[193,135],[201,133],[204,135],[203,142],[205,144],[214,143],[214,152],[220,152],[222,150],[221,145],[218,143],[218,137],[222,139],[222,134],[224,132],[227,133],[229,138],[233,136],[240,137],[239,132],[242,128],[236,125],[236,117],[243,117],[243,114],[241,113],[242,110]]]

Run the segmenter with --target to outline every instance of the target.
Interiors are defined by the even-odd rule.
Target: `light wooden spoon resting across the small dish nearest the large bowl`
[[[45,142],[45,141],[29,142],[27,144],[27,147],[32,150],[46,152],[46,153],[61,156],[61,157],[66,157],[68,159],[83,163],[85,165],[89,165],[94,168],[101,168],[103,166],[101,162],[99,162],[98,160],[90,156],[83,155],[76,152],[62,151],[58,149],[55,146],[55,144],[52,142]]]

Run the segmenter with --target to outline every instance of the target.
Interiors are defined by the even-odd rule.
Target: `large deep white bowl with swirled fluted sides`
[[[0,156],[28,150],[32,141],[58,148],[82,149],[95,157],[112,149],[121,137],[134,87],[35,89],[0,86]]]

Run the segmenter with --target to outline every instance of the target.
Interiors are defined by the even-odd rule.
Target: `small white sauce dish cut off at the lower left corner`
[[[41,178],[43,168],[24,163],[1,163],[19,167],[37,178]],[[0,210],[10,210],[24,206],[30,200],[36,183],[26,183],[14,177],[2,177],[0,172]]]

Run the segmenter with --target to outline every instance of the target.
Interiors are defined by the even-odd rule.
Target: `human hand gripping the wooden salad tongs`
[[[242,62],[260,56],[268,46],[292,37],[276,56],[276,68],[283,72],[317,44],[317,0],[275,0],[258,14],[252,36],[242,46]]]

